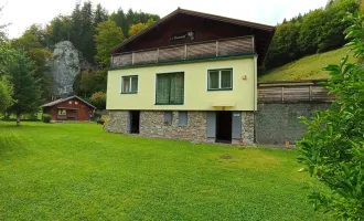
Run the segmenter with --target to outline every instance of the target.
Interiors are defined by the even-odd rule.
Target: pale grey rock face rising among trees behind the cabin
[[[79,53],[69,41],[55,44],[51,62],[53,95],[67,96],[73,93],[73,83],[79,73]]]

